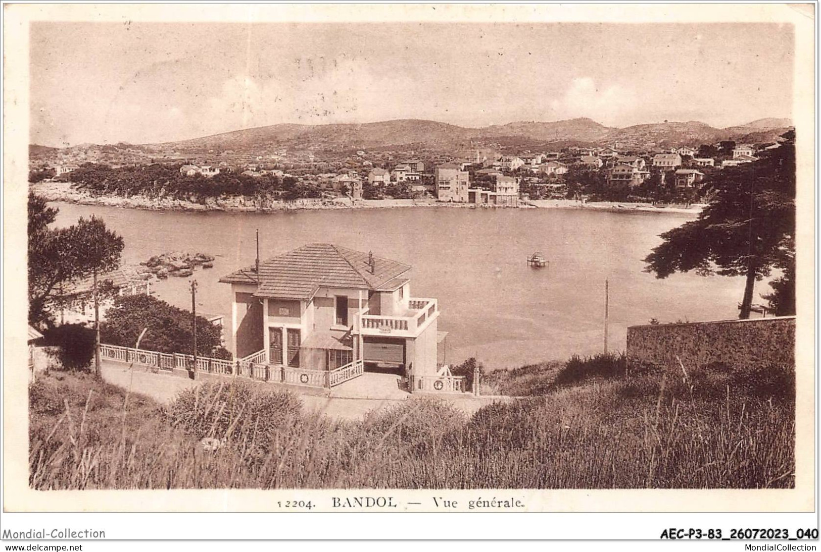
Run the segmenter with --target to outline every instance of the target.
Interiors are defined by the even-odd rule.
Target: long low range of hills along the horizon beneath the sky
[[[202,138],[163,144],[117,144],[117,148],[158,151],[214,150],[235,152],[259,148],[391,148],[414,145],[427,148],[470,147],[479,140],[510,146],[544,144],[620,144],[625,148],[668,148],[714,144],[732,139],[744,142],[773,142],[790,126],[787,119],[759,119],[746,125],[718,129],[699,121],[663,122],[612,128],[581,117],[565,121],[518,121],[506,125],[466,128],[438,121],[398,119],[362,124],[281,124],[233,130]],[[77,148],[77,146],[75,147]],[[32,154],[45,153],[44,146],[31,145]]]

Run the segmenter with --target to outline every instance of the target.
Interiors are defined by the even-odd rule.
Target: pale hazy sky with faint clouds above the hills
[[[30,142],[149,144],[278,123],[790,117],[789,25],[35,22]]]

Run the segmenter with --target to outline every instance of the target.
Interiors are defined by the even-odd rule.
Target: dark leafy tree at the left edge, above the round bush
[[[120,262],[122,237],[102,219],[80,218],[75,225],[52,229],[57,209],[29,194],[29,322],[51,324],[48,304],[62,284],[113,270]]]

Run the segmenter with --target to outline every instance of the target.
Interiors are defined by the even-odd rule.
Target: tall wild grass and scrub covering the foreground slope
[[[420,397],[360,422],[245,381],[162,408],[61,376],[30,388],[37,489],[794,486],[791,370],[628,373],[619,358],[573,359],[505,376],[542,395],[472,417]]]

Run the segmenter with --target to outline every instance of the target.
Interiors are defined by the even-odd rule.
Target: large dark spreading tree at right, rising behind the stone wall
[[[792,249],[796,226],[793,133],[768,157],[713,172],[705,182],[710,203],[695,221],[661,235],[644,262],[658,278],[696,271],[700,276],[745,276],[739,317],[749,318],[756,280],[768,276]]]

